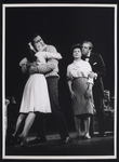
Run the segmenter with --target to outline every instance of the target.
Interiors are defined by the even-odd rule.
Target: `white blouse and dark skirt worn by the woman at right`
[[[72,99],[74,116],[93,113],[92,97],[89,99],[85,99],[84,97],[88,83],[93,84],[93,79],[88,78],[88,75],[91,71],[90,64],[82,59],[79,62],[74,60],[74,63],[67,67],[68,81],[72,82],[72,91],[76,94],[76,98]]]

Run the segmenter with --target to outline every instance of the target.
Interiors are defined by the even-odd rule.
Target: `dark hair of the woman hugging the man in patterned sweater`
[[[25,56],[28,59],[28,62],[30,62],[30,63],[37,60],[37,56],[35,56],[35,52],[32,50],[30,50],[29,48],[26,48]]]

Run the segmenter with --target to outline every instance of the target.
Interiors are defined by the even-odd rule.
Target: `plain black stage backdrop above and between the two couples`
[[[114,96],[115,38],[114,8],[6,8],[5,10],[5,96],[14,96],[19,105],[27,75],[23,75],[19,60],[30,36],[38,32],[45,43],[62,54],[60,60],[60,105],[68,126],[71,126],[70,97],[66,82],[66,68],[72,62],[74,43],[89,40],[93,52],[103,56],[107,73],[105,90]]]

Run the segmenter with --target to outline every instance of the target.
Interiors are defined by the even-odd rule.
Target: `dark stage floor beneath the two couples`
[[[69,133],[74,136],[75,133]],[[36,138],[29,134],[28,140]],[[106,137],[95,136],[91,139],[72,139],[70,144],[61,145],[58,134],[47,135],[47,143],[29,145],[27,148],[19,146],[5,148],[5,156],[114,156],[114,133],[106,132]]]

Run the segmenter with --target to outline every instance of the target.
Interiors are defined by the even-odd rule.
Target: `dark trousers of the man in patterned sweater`
[[[61,107],[58,106],[58,79],[60,79],[58,77],[48,77],[47,82],[48,82],[48,90],[49,90],[49,95],[50,95],[52,114],[56,122],[60,136],[62,140],[65,140],[66,137],[69,136],[69,134],[68,134],[65,117],[63,114]],[[41,139],[44,139],[45,138],[44,117],[42,113],[39,113],[38,118],[40,120],[39,122],[37,121],[38,137],[40,137]]]

